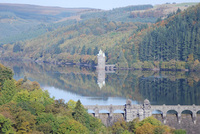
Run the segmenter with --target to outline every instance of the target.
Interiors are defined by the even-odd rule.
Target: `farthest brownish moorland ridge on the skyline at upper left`
[[[77,13],[90,10],[89,8],[61,8],[24,4],[0,4],[0,12],[10,12],[22,19],[38,21],[55,21]],[[5,16],[4,16],[5,17]]]

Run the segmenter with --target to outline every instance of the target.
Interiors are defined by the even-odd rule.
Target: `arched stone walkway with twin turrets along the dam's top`
[[[130,100],[127,100],[125,105],[85,105],[86,109],[90,110],[91,113],[100,118],[100,111],[108,114],[109,118],[112,118],[115,112],[122,114],[123,118],[129,122],[135,118],[143,120],[152,114],[161,114],[162,121],[166,123],[167,114],[175,114],[177,121],[181,122],[181,114],[190,114],[193,123],[196,124],[197,114],[200,114],[200,106],[196,105],[150,105],[150,102],[146,99],[144,104],[132,105]],[[106,112],[105,112],[106,111]]]

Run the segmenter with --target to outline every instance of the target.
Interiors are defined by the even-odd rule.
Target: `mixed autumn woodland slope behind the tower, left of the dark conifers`
[[[2,46],[1,57],[51,63],[94,64],[99,49],[103,49],[109,63],[123,60],[121,42],[136,32],[141,24],[93,19],[59,28],[33,40]],[[126,52],[131,56],[132,46]],[[114,50],[114,51],[113,51]],[[120,52],[120,53],[119,53]],[[9,57],[8,57],[9,55]],[[131,58],[131,57],[130,57]],[[133,57],[134,59],[134,57]],[[128,63],[126,62],[126,67]]]

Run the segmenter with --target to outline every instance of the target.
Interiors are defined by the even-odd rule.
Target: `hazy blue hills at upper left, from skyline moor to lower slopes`
[[[0,44],[37,37],[52,28],[51,23],[80,20],[79,14],[90,10],[95,9],[0,4]]]

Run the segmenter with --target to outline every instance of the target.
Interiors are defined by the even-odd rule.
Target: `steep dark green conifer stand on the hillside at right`
[[[151,27],[139,44],[139,59],[169,62],[172,66],[179,62],[179,66],[199,68],[200,4],[183,12],[177,10]],[[184,62],[188,65],[183,65],[187,64]],[[166,66],[169,65],[163,63],[163,68]]]

